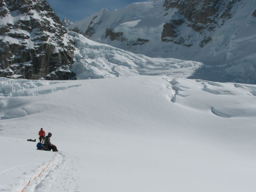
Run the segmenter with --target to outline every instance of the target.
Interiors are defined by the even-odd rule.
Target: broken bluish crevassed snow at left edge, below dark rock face
[[[32,107],[29,99],[23,96],[37,96],[55,93],[80,84],[66,85],[65,81],[37,81],[27,79],[0,78],[0,119],[24,117],[47,110],[45,106]]]

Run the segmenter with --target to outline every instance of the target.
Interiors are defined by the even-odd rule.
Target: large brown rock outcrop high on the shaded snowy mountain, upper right
[[[210,32],[232,17],[232,8],[236,2],[240,1],[165,0],[163,4],[165,11],[177,9],[178,12],[175,17],[178,19],[170,19],[164,25],[161,39],[162,41],[172,41],[173,43],[190,47],[190,37],[182,38],[181,40],[177,39],[181,25],[185,23],[187,27],[191,27],[203,36],[199,46],[204,47],[212,40]]]

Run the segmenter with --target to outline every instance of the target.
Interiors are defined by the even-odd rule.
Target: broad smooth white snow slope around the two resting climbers
[[[255,85],[165,75],[0,85],[1,191],[256,189]],[[26,141],[41,127],[60,152]]]

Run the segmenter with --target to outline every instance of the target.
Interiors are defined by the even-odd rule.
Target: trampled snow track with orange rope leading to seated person
[[[42,151],[46,152],[46,151]],[[2,176],[5,172],[20,168],[30,163],[15,166],[0,173]],[[76,176],[78,167],[81,167],[78,157],[65,152],[53,153],[52,160],[37,166],[28,172],[24,172],[18,177],[17,183],[1,185],[0,191],[11,192],[51,192],[51,191],[80,191]]]

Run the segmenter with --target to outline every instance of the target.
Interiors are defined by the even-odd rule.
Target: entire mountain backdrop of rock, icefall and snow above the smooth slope
[[[148,1],[62,24],[45,0],[4,0],[0,8],[0,76],[87,79],[179,69],[187,78],[256,83],[254,0]]]

